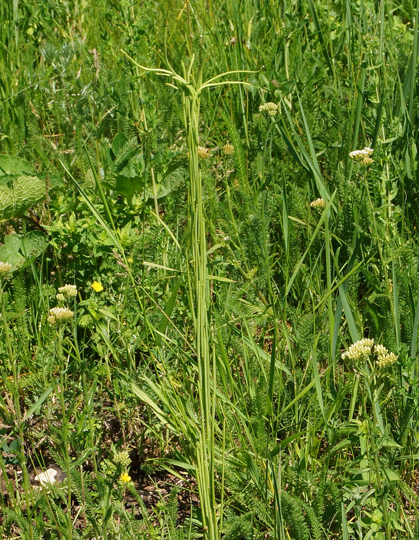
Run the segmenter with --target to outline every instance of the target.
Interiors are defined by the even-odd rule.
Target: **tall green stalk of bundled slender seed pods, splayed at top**
[[[205,89],[225,84],[247,84],[237,80],[220,81],[232,73],[252,73],[236,70],[221,73],[202,81],[202,69],[195,77],[192,73],[194,55],[186,69],[182,62],[182,75],[170,69],[146,68],[122,51],[143,72],[154,72],[170,78],[168,86],[182,92],[183,122],[189,152],[188,186],[188,246],[186,249],[186,274],[198,359],[198,395],[200,431],[193,451],[198,494],[201,505],[202,528],[208,540],[219,539],[217,501],[215,498],[214,424],[215,424],[215,350],[211,352],[208,333],[207,242],[202,181],[199,168],[199,109],[201,93]],[[167,60],[167,59],[166,59]],[[167,62],[168,64],[168,62]],[[192,260],[190,261],[190,255]]]

